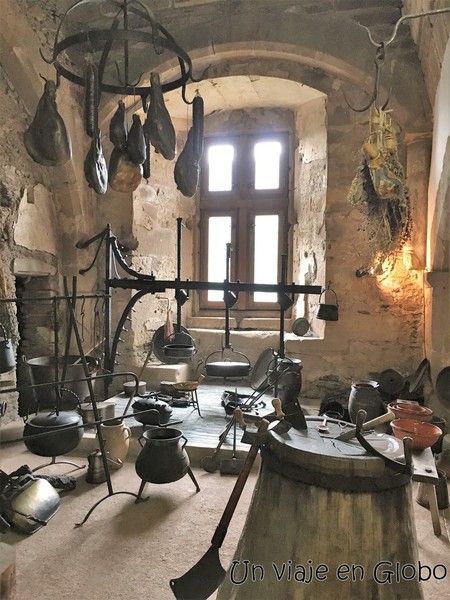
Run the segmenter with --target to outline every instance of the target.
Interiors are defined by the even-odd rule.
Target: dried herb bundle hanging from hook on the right
[[[364,214],[361,229],[372,260],[378,264],[388,260],[393,266],[411,234],[411,206],[394,126],[381,108],[372,108],[369,135],[348,200]]]

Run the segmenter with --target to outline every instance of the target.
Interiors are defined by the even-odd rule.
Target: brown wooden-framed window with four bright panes
[[[230,243],[230,279],[280,281],[280,257],[288,251],[289,140],[288,132],[205,140],[200,198],[203,280],[225,279]],[[203,292],[200,308],[223,309],[223,293]],[[279,310],[276,293],[241,294],[233,310],[270,315]]]

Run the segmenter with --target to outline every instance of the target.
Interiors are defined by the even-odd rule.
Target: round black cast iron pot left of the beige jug
[[[24,444],[30,452],[38,456],[60,456],[78,446],[84,428],[81,415],[74,411],[41,411],[28,419],[23,430]],[[28,436],[42,434],[27,439]],[[47,435],[45,435],[47,434]]]

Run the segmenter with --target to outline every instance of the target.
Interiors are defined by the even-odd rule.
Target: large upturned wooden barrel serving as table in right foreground
[[[410,476],[319,432],[269,433],[246,524],[217,600],[423,598]],[[396,438],[371,443],[401,462]]]

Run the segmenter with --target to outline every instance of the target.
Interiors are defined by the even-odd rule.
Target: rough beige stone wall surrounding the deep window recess
[[[153,270],[159,278],[172,278],[176,272],[175,220],[179,216],[188,225],[183,241],[183,277],[193,277],[194,266],[189,258],[196,252],[195,202],[177,193],[173,163],[156,158],[149,184],[143,183],[134,195],[108,192],[105,197],[98,198],[87,189],[81,165],[88,140],[80,132],[82,94],[79,91],[64,83],[58,93],[61,111],[76,142],[76,156],[71,168],[55,177],[32,163],[24,151],[20,132],[23,132],[42,90],[41,63],[36,48],[43,45],[44,50],[48,50],[58,16],[71,4],[69,0],[64,3],[44,0],[12,3],[7,0],[5,4],[8,11],[21,10],[21,14],[16,15],[20,28],[17,27],[16,32],[8,31],[7,35],[4,32],[2,44],[9,50],[7,55],[3,54],[2,64],[5,61],[9,69],[11,65],[21,64],[23,75],[12,86],[6,78],[0,80],[0,107],[2,117],[6,116],[0,123],[0,150],[3,151],[0,215],[4,225],[1,252],[3,265],[6,265],[3,275],[5,293],[14,293],[14,278],[8,266],[11,259],[19,250],[21,256],[29,254],[26,249],[15,246],[12,236],[22,190],[38,183],[51,191],[58,207],[59,220],[55,229],[61,255],[53,257],[44,252],[41,258],[56,264],[59,277],[76,274],[78,268],[89,264],[94,256],[95,245],[87,251],[79,251],[75,249],[75,242],[80,238],[87,239],[106,223],[111,223],[120,241],[130,247],[130,260],[134,266]],[[405,11],[413,5],[412,2],[404,4]],[[423,294],[419,275],[407,271],[399,261],[389,280],[355,277],[356,269],[367,260],[368,250],[364,232],[359,228],[362,215],[347,202],[346,196],[360,160],[368,115],[367,112],[352,112],[343,95],[345,92],[352,103],[360,106],[367,101],[373,87],[374,47],[357,22],[367,25],[381,39],[387,39],[393,23],[401,16],[402,3],[387,0],[378,3],[372,0],[281,0],[276,3],[269,0],[236,0],[232,3],[224,0],[163,0],[157,2],[156,7],[160,21],[195,58],[195,72],[205,72],[204,76],[211,81],[241,75],[273,76],[308,85],[327,97],[326,155],[322,153],[317,157],[317,170],[303,171],[301,179],[302,185],[309,180],[315,182],[318,205],[326,201],[323,215],[326,244],[315,249],[311,247],[307,264],[299,265],[299,270],[305,278],[314,273],[316,279],[323,279],[324,285],[327,281],[332,282],[339,296],[340,318],[337,323],[326,324],[323,339],[299,340],[287,334],[286,352],[301,358],[304,364],[305,393],[322,397],[330,390],[348,385],[353,378],[367,378],[369,373],[385,368],[398,369],[402,374],[412,372],[423,357]],[[424,244],[420,199],[428,177],[424,164],[428,150],[422,148],[423,158],[420,158],[420,152],[411,144],[421,138],[427,140],[431,135],[433,103],[430,99],[434,97],[433,89],[437,85],[439,60],[432,60],[434,50],[430,45],[427,49],[426,43],[431,39],[440,55],[444,40],[448,39],[448,26],[442,30],[438,20],[441,23],[441,17],[436,18],[433,27],[426,31],[429,35],[422,35],[419,45],[426,84],[409,28],[402,26],[389,47],[381,85],[382,98],[392,85],[390,106],[402,131],[400,141],[408,175],[414,173],[414,246],[418,248],[419,258]],[[23,21],[38,39],[34,46]],[[17,39],[14,39],[14,33]],[[15,62],[13,59],[17,56],[29,56],[29,59]],[[162,62],[161,73],[171,73],[174,62],[173,59]],[[138,74],[143,70],[140,64],[133,68]],[[115,102],[116,99],[105,99],[103,124]],[[26,113],[22,103],[26,104]],[[219,121],[221,118],[219,114]],[[180,130],[178,134],[181,144],[185,132]],[[414,161],[420,164],[419,173],[413,170],[417,164]],[[326,184],[323,181],[325,169]],[[322,190],[320,181],[323,181]],[[315,221],[318,230],[320,216],[317,215]],[[32,251],[33,255],[35,253]],[[91,271],[81,279],[81,289],[97,289],[102,277],[102,267],[98,272]],[[61,289],[60,281],[57,285]],[[44,289],[49,288],[44,286]],[[130,292],[114,293],[117,319]],[[313,301],[308,301],[313,310]],[[131,331],[124,337],[124,366],[133,361],[139,364],[149,336],[164,322],[165,310],[166,301],[156,297],[136,307]],[[318,326],[313,323],[313,327]],[[206,336],[202,338],[201,356],[205,356],[211,346],[220,347],[220,331],[208,339]],[[232,341],[237,349],[248,350],[252,362],[264,348],[277,347],[276,332],[256,335],[233,332]]]

